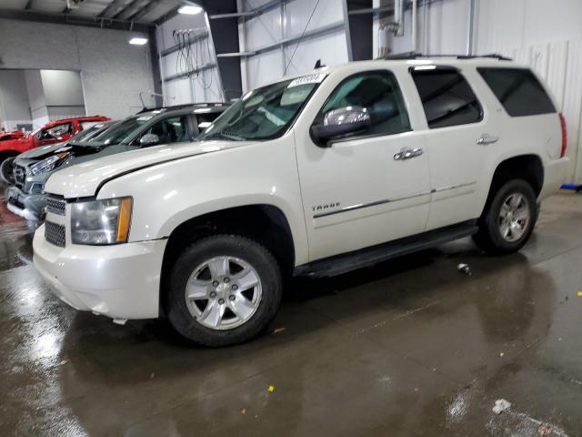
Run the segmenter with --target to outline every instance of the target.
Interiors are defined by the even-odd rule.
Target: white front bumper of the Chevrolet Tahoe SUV
[[[76,310],[113,319],[158,317],[166,239],[58,248],[45,240],[45,226],[41,226],[33,248],[35,268],[56,297]]]

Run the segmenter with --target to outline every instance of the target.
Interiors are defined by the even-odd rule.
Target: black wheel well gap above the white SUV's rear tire
[[[493,174],[484,213],[487,213],[487,209],[495,197],[497,190],[511,179],[525,180],[534,189],[536,197],[539,196],[544,186],[544,167],[542,166],[542,160],[537,155],[521,155],[502,161]]]

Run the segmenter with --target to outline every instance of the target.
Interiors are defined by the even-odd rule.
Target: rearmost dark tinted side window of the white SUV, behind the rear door
[[[556,108],[527,68],[477,68],[511,117],[551,114]]]

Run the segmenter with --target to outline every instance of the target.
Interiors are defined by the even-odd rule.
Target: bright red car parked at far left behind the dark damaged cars
[[[0,141],[0,165],[6,158],[13,158],[34,147],[62,143],[86,127],[100,121],[109,121],[110,119],[101,116],[65,118],[50,121],[25,137]]]

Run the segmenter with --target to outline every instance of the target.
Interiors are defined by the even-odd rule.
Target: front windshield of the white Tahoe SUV
[[[226,109],[198,139],[241,141],[279,137],[325,77],[325,74],[302,76],[250,91]]]

